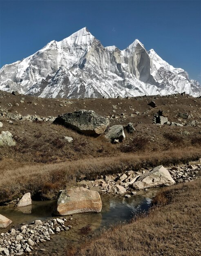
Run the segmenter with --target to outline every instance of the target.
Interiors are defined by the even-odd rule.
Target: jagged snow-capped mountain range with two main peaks
[[[135,40],[126,49],[103,47],[87,28],[0,69],[0,90],[38,97],[126,97],[186,92],[201,95],[197,81]]]

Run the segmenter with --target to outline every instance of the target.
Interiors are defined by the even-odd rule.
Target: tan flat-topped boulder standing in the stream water
[[[97,191],[83,187],[60,190],[57,197],[56,215],[69,215],[73,213],[100,212],[102,201]]]

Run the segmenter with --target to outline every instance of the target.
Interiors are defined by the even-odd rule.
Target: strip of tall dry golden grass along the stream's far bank
[[[100,175],[121,173],[128,170],[152,168],[163,164],[186,163],[198,159],[199,148],[184,148],[158,153],[126,154],[114,157],[79,159],[58,164],[35,164],[19,168],[0,170],[0,202],[20,197],[31,192],[32,198],[55,198],[60,189],[76,185],[76,181],[87,178],[96,179]],[[12,166],[13,161],[9,164]]]

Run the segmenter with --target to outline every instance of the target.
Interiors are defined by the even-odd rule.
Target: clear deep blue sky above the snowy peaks
[[[87,27],[104,46],[147,50],[201,81],[201,1],[0,1],[0,67]]]

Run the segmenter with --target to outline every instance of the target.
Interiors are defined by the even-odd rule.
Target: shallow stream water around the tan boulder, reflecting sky
[[[45,248],[51,254],[63,255],[67,243],[80,244],[86,237],[96,235],[101,229],[108,228],[118,222],[129,221],[134,215],[147,211],[152,202],[153,193],[136,195],[131,198],[123,196],[102,195],[103,208],[101,213],[79,213],[71,216],[64,216],[67,225],[72,225],[69,231],[62,231],[58,235],[51,236],[51,241],[40,244],[40,248]],[[17,210],[11,207],[0,207],[0,214],[11,219],[13,223],[7,228],[18,227],[22,223],[31,223],[34,220],[45,220],[52,218],[55,201],[36,202],[32,201],[32,206],[23,207]],[[73,218],[73,220],[70,220]],[[81,234],[80,229],[89,225],[91,231],[87,235]],[[4,231],[0,229],[0,231]],[[40,255],[44,254],[40,252]]]

